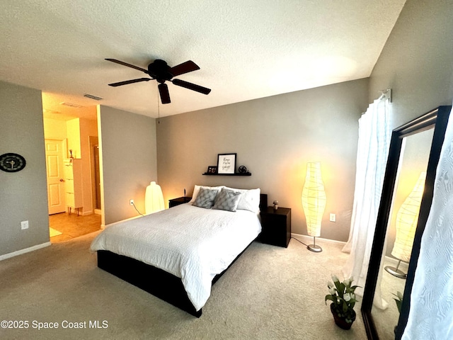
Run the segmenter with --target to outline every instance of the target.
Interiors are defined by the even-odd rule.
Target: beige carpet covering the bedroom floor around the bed
[[[347,257],[336,244],[319,242],[316,254],[294,239],[287,249],[254,242],[197,319],[97,268],[96,234],[0,261],[0,321],[29,322],[0,328],[0,339],[366,339],[360,303],[350,331],[336,327],[324,303],[326,282]],[[107,328],[89,328],[96,321]],[[67,322],[86,328],[62,328]]]

